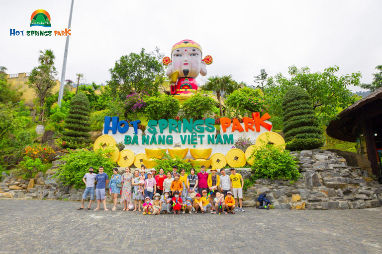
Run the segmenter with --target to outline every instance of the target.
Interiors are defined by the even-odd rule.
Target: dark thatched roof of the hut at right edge
[[[358,124],[356,120],[369,113],[371,108],[373,113],[379,111],[382,114],[382,87],[344,109],[338,114],[338,119],[332,121],[326,128],[326,133],[340,140],[355,142],[357,137],[353,133],[353,127]]]

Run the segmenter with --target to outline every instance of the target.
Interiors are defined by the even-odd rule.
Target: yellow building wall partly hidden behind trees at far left
[[[8,83],[11,84],[12,89],[19,88],[19,91],[22,92],[21,99],[24,99],[25,104],[33,105],[33,100],[36,98],[36,93],[33,89],[29,88],[25,82],[28,81],[30,72],[17,73],[17,74],[8,74],[7,79]],[[56,85],[52,88],[52,93],[55,94],[60,89],[60,81],[56,79]]]

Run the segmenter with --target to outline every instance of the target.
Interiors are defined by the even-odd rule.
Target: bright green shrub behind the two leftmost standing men
[[[74,185],[74,188],[84,188],[85,184],[82,181],[85,173],[89,172],[89,167],[93,167],[95,172],[99,166],[103,166],[103,172],[111,177],[112,169],[116,167],[114,161],[106,157],[110,151],[98,149],[89,151],[86,149],[75,150],[69,152],[61,160],[66,161],[55,177],[63,181],[66,185]]]

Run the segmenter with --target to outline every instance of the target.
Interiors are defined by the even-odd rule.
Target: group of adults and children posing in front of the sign
[[[185,169],[180,170],[174,166],[171,172],[164,174],[163,168],[159,174],[155,169],[146,172],[144,165],[140,170],[130,172],[130,167],[125,168],[125,172],[120,175],[117,168],[113,168],[113,175],[109,177],[103,172],[103,167],[98,168],[95,174],[94,168],[89,168],[83,181],[86,189],[82,196],[82,205],[78,210],[84,209],[85,200],[90,195],[90,210],[92,202],[97,199],[97,207],[103,202],[106,208],[105,190],[108,186],[113,199],[112,211],[116,211],[118,195],[121,195],[123,210],[142,211],[143,214],[160,213],[235,213],[244,212],[242,208],[244,179],[234,168],[230,169],[231,175],[221,169],[221,176],[217,175],[216,168],[211,169],[211,174],[205,170],[205,166],[200,167],[200,172],[195,173],[191,168],[191,174],[186,174]],[[95,187],[96,183],[96,187]],[[237,201],[235,201],[235,199]],[[134,202],[134,204],[132,204]],[[142,207],[142,209],[141,209]]]

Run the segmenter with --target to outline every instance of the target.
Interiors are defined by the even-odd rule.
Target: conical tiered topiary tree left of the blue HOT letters
[[[62,139],[64,148],[84,147],[90,144],[90,105],[84,93],[75,95],[70,102],[69,114],[65,119]]]

